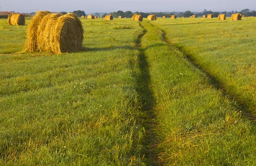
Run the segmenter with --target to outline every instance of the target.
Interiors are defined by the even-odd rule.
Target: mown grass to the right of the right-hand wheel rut
[[[170,25],[168,21],[161,20],[158,24],[175,46],[212,75],[216,84],[235,97],[243,109],[255,114],[256,19],[198,20],[211,20],[212,23],[195,22],[184,26]],[[192,21],[187,20],[187,23]]]

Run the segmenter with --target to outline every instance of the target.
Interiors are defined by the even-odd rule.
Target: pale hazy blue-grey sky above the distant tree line
[[[241,11],[256,10],[256,0],[1,0],[0,11],[31,13],[82,10],[86,14],[113,11]]]

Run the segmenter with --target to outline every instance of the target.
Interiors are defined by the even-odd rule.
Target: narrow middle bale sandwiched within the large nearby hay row
[[[50,35],[51,34],[51,30],[53,29],[52,27],[54,27],[53,25],[55,25],[55,21],[58,19],[58,17],[62,16],[63,14],[61,13],[52,13],[49,17],[49,20],[47,21],[46,25],[45,25],[45,29],[44,29],[44,50],[45,51],[51,51],[51,42],[50,40],[53,40],[53,37]],[[52,46],[53,47],[53,46]]]

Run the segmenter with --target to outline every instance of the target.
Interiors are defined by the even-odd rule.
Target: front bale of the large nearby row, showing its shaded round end
[[[58,17],[52,25],[50,40],[52,52],[80,52],[83,50],[84,29],[81,20],[74,13]],[[51,38],[52,38],[51,37]]]

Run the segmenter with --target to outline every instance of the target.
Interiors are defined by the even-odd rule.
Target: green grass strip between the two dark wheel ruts
[[[155,151],[163,165],[253,165],[256,126],[236,103],[215,89],[183,52],[167,43],[160,20],[143,22],[142,46],[151,76],[158,138]],[[165,27],[165,26],[164,26]],[[171,30],[170,30],[171,31]],[[174,31],[174,29],[172,29]]]

